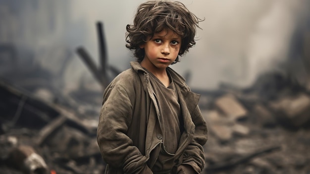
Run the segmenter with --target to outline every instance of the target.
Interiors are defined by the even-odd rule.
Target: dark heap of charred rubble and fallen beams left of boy
[[[102,174],[97,122],[0,82],[0,174]]]

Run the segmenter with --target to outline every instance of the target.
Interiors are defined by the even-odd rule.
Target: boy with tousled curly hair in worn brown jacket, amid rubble
[[[138,59],[103,94],[97,140],[105,174],[200,174],[207,124],[199,95],[168,67],[195,45],[199,19],[181,2],[147,1],[127,25]]]

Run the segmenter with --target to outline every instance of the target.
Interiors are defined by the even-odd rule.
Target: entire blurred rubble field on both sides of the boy
[[[1,174],[103,174],[98,117],[5,81],[0,95]],[[310,173],[307,89],[268,74],[251,88],[202,92],[200,107],[209,128],[203,174]]]

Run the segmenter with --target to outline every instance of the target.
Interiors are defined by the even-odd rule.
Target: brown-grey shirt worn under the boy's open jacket
[[[163,125],[163,138],[161,150],[157,161],[152,169],[155,174],[165,174],[170,172],[174,164],[174,153],[179,146],[179,140],[182,134],[183,121],[181,118],[181,109],[178,95],[171,80],[170,85],[165,87],[152,73],[150,73],[150,82],[153,86],[158,105],[161,112],[161,122]],[[164,164],[164,165],[163,165]],[[170,164],[170,165],[167,165]]]

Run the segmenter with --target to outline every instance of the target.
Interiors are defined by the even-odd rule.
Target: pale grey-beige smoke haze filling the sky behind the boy
[[[134,58],[125,48],[125,26],[143,1],[1,0],[0,43],[16,45],[20,59],[33,52],[36,62],[54,73],[67,62],[61,78],[73,88],[81,78],[93,79],[75,49],[83,46],[98,62],[97,21],[103,22],[108,63],[119,70],[129,67]],[[296,31],[310,28],[310,0],[180,1],[205,19],[197,45],[171,66],[181,75],[191,72],[192,88],[251,85],[288,59]]]

